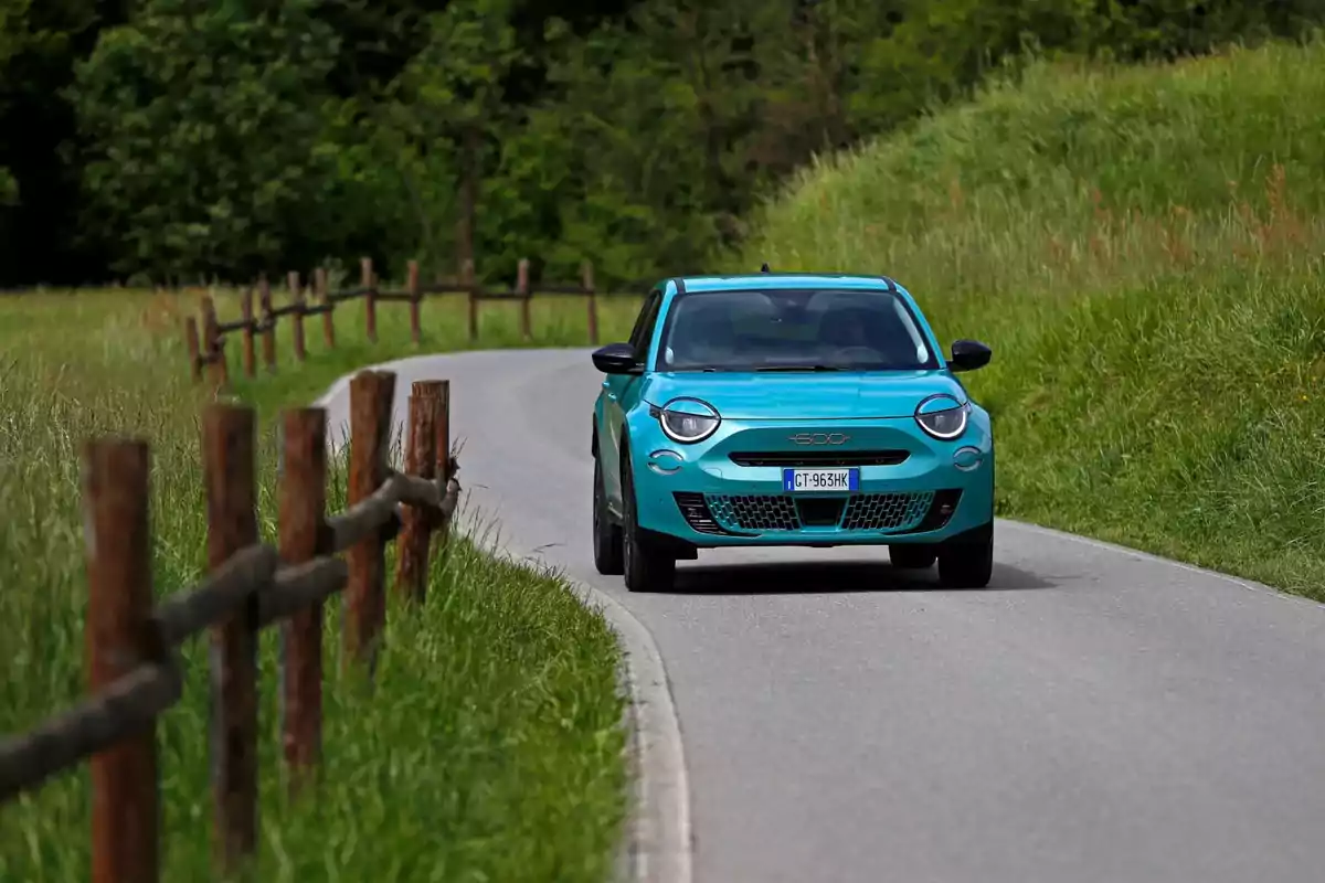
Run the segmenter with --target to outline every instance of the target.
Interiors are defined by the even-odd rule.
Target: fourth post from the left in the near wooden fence
[[[360,371],[350,380],[350,506],[363,502],[387,479],[387,446],[391,442],[391,405],[396,376],[390,371]],[[386,548],[370,536],[346,553],[346,659],[376,659],[378,638],[386,613]]]

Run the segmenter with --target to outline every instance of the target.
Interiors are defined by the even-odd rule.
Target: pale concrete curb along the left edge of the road
[[[314,400],[313,406],[327,408],[344,395],[350,379],[359,371],[391,369],[413,359],[417,356],[364,365],[342,375]],[[329,438],[327,445],[334,449],[335,441]],[[529,553],[517,557],[546,567]],[[580,593],[582,604],[588,606],[591,600],[596,605],[621,649],[620,686],[627,695],[628,769],[633,792],[625,842],[621,845],[627,876],[632,883],[692,883],[689,778],[681,721],[662,654],[653,634],[620,601],[566,573],[559,572],[558,576]]]

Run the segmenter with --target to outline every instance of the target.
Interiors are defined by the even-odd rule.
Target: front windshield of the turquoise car
[[[659,371],[916,371],[937,368],[892,291],[739,289],[678,295]]]

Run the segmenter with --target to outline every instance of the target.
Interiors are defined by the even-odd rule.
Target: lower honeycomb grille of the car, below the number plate
[[[682,494],[677,494],[677,502]],[[684,496],[700,496],[685,494]],[[844,531],[913,530],[930,512],[933,491],[901,494],[853,494],[851,496],[790,496],[750,494],[704,496],[718,528],[730,531],[799,531],[806,527],[840,527]],[[686,507],[686,522],[696,522]],[[696,530],[700,530],[696,527]],[[712,530],[705,532],[714,532]]]

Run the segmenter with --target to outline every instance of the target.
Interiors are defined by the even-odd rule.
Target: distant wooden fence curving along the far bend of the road
[[[364,303],[364,320],[368,340],[378,339],[378,303],[403,302],[409,304],[409,335],[413,343],[419,343],[423,335],[421,311],[423,302],[429,295],[460,294],[469,302],[469,342],[478,339],[478,310],[485,301],[505,301],[519,304],[519,330],[525,340],[533,339],[533,318],[530,301],[537,294],[579,295],[584,298],[586,318],[588,320],[588,342],[598,346],[598,298],[599,293],[594,287],[594,266],[588,262],[580,267],[580,281],[574,285],[538,283],[529,281],[529,261],[522,259],[518,266],[515,287],[509,291],[489,291],[474,282],[473,265],[466,262],[461,270],[458,281],[439,282],[435,285],[421,285],[419,281],[419,262],[411,261],[408,266],[408,282],[405,289],[399,291],[382,290],[378,287],[378,278],[372,270],[370,258],[360,259],[359,287],[341,291],[327,289],[325,270],[313,274],[311,285],[301,283],[298,273],[286,275],[286,287],[290,302],[285,306],[272,306],[272,285],[262,277],[257,282],[257,311],[253,303],[253,287],[242,291],[240,301],[241,315],[231,322],[221,322],[216,316],[216,304],[211,295],[203,297],[201,316],[195,319],[188,316],[184,320],[184,342],[188,347],[188,357],[195,380],[201,380],[204,369],[212,375],[212,383],[224,385],[229,381],[229,367],[225,357],[225,339],[231,334],[242,335],[242,368],[244,375],[253,377],[257,373],[257,355],[254,351],[254,338],[262,342],[262,364],[268,371],[276,369],[276,323],[289,316],[293,320],[294,359],[303,361],[306,356],[303,320],[311,316],[322,316],[322,338],[327,348],[335,347],[335,322],[333,314],[338,304],[362,299]],[[639,286],[637,294],[648,291],[648,283]],[[310,298],[311,295],[311,298]],[[611,295],[607,295],[611,297]]]

